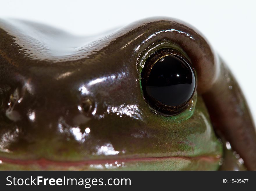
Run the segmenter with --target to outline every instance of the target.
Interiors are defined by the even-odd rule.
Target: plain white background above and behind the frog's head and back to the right
[[[198,28],[239,81],[256,119],[254,1],[0,1],[0,17],[46,23],[77,35],[102,33],[138,19],[168,16]]]

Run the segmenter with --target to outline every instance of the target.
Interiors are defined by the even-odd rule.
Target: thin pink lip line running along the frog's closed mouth
[[[164,159],[185,159],[185,160],[205,160],[208,162],[216,162],[219,160],[218,157],[214,156],[196,156],[196,157],[147,157],[147,158],[120,158],[120,159],[104,159],[104,160],[85,160],[85,161],[56,161],[48,160],[45,158],[35,159],[35,160],[19,160],[19,159],[10,159],[10,158],[1,158],[2,163],[16,164],[16,165],[39,165],[41,167],[46,167],[48,165],[58,165],[63,167],[69,166],[79,166],[79,165],[91,165],[91,164],[106,164],[106,163],[115,163],[116,161],[122,162],[132,162],[132,161],[158,161]]]

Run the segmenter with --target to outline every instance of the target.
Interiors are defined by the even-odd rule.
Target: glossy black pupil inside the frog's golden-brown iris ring
[[[158,60],[147,77],[147,95],[166,106],[189,101],[195,89],[195,76],[189,64],[175,55]]]

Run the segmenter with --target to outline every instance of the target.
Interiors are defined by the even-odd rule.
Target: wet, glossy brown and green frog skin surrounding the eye
[[[191,60],[197,79],[173,116],[147,104],[140,78],[149,55],[168,47]],[[95,105],[88,113],[85,97]],[[0,107],[2,170],[256,170],[237,82],[200,32],[175,19],[89,38],[0,20]]]

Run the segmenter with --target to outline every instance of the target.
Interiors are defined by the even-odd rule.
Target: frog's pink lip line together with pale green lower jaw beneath
[[[1,167],[22,170],[202,170],[208,167],[214,170],[218,167],[220,156],[196,157],[145,157],[85,161],[54,161],[45,158],[37,160],[19,160],[0,158]]]

